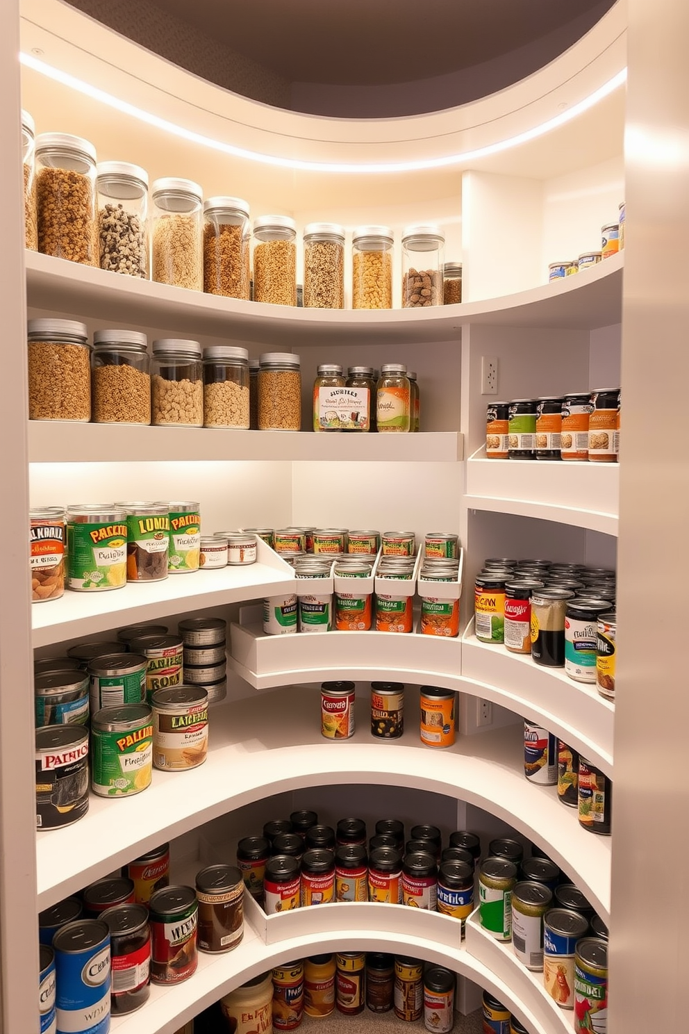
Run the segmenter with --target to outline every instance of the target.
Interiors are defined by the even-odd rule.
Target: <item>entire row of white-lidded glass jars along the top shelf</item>
[[[252,227],[247,202],[203,201],[192,180],[157,179],[138,165],[96,163],[94,146],[70,133],[34,136],[22,113],[26,246],[44,254],[227,298],[296,305],[296,223],[264,215]],[[150,238],[150,240],[149,240]],[[444,234],[411,225],[402,236],[402,307],[462,300],[462,267],[443,263]],[[352,308],[393,307],[394,234],[365,225],[352,235]],[[304,230],[303,304],[342,309],[344,227]]]

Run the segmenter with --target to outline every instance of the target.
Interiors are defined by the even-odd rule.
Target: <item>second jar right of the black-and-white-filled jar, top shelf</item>
[[[251,223],[241,197],[203,203],[203,291],[249,301]]]

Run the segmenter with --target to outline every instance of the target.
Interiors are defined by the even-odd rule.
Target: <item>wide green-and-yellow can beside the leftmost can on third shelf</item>
[[[127,515],[113,503],[67,508],[67,586],[123,588],[127,581]]]

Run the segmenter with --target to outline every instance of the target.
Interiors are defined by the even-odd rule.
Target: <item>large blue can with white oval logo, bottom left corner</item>
[[[57,1034],[107,1034],[111,1027],[111,934],[102,919],[68,922],[53,941]]]

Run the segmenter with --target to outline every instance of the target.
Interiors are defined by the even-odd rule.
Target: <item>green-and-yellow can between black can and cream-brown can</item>
[[[91,721],[91,789],[131,797],[151,785],[153,722],[148,704],[104,707]]]

